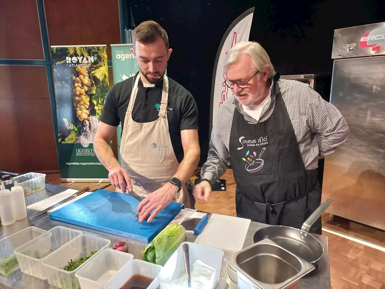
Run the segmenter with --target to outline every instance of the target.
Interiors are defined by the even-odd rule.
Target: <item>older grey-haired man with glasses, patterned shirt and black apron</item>
[[[318,159],[346,141],[346,121],[307,84],[280,79],[257,42],[234,45],[225,70],[234,95],[217,113],[194,197],[208,202],[231,164],[238,217],[300,228],[320,205]],[[321,219],[310,232],[321,234]]]

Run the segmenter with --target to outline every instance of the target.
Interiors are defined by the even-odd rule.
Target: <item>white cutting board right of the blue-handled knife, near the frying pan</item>
[[[243,249],[250,222],[250,219],[213,214],[194,243],[238,252]]]

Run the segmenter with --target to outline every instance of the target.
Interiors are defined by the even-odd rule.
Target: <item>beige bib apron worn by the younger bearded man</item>
[[[172,148],[167,121],[168,78],[163,77],[162,101],[159,118],[148,123],[137,123],[132,119],[141,72],[135,79],[130,102],[124,118],[121,140],[121,162],[132,180],[132,189],[146,197],[161,188],[176,172],[179,163]],[[116,189],[117,192],[121,190]],[[186,185],[176,193],[174,202],[184,203],[190,208]]]

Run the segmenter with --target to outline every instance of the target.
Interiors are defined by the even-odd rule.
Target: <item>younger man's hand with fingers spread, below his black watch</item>
[[[167,205],[174,199],[178,191],[178,187],[172,185],[171,183],[166,183],[163,187],[157,189],[155,192],[149,194],[142,202],[139,203],[138,218],[139,223],[147,220],[151,222],[154,220],[157,213],[167,207]],[[155,210],[151,216],[150,213],[152,210]]]

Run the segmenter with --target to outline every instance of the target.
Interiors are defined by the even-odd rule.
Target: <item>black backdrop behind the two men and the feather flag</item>
[[[207,158],[211,81],[218,45],[242,12],[255,7],[249,40],[266,49],[281,75],[331,74],[334,29],[385,21],[383,0],[127,0],[128,11],[130,6],[135,25],[152,19],[167,31],[173,49],[168,75],[192,93],[199,109],[200,166]]]

